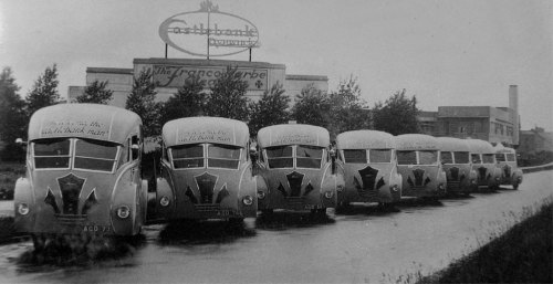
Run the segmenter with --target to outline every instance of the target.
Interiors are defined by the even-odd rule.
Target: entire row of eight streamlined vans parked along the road
[[[164,125],[160,170],[148,183],[140,126],[136,114],[112,106],[38,111],[27,176],[15,186],[15,228],[134,235],[152,222],[241,221],[274,209],[325,214],[352,202],[392,204],[522,181],[514,150],[483,140],[356,130],[331,145],[322,127],[286,124],[260,129],[254,145],[242,122],[190,117]]]

